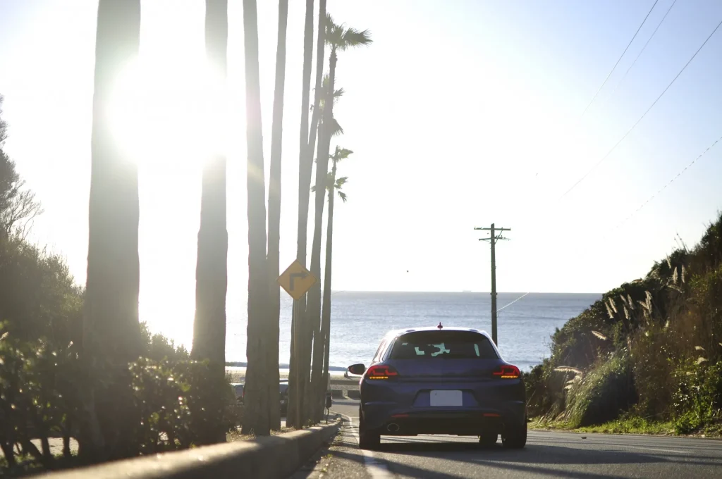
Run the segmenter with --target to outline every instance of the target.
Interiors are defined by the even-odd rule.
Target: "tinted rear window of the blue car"
[[[390,359],[498,359],[486,336],[471,331],[417,331],[396,338]]]

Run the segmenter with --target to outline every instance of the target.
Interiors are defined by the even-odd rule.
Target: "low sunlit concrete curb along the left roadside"
[[[48,479],[286,479],[333,437],[341,421],[248,441],[108,462],[38,477]]]

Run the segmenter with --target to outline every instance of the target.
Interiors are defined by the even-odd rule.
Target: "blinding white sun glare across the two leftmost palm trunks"
[[[141,55],[122,69],[111,98],[113,137],[141,166],[193,167],[227,154],[227,84],[207,61],[180,69]]]

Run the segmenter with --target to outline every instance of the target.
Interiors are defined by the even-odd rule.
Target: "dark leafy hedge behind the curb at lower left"
[[[96,404],[113,404],[112,417],[97,418],[110,457],[222,441],[225,432],[220,437],[220,429],[240,426],[242,409],[222,366],[168,358],[139,358],[124,369],[90,366],[72,343],[53,347],[5,332],[0,340],[0,447],[9,465],[15,462],[13,445],[20,444],[34,462],[53,468],[47,439],[78,437],[79,426],[91,420],[93,408],[84,396],[90,390]],[[113,427],[121,422],[135,427]],[[130,436],[118,436],[115,431],[121,430]],[[31,439],[41,439],[41,450]]]

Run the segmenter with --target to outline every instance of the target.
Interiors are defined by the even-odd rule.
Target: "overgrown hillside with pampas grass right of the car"
[[[557,329],[526,387],[539,426],[719,434],[722,214],[694,248],[682,245]]]

